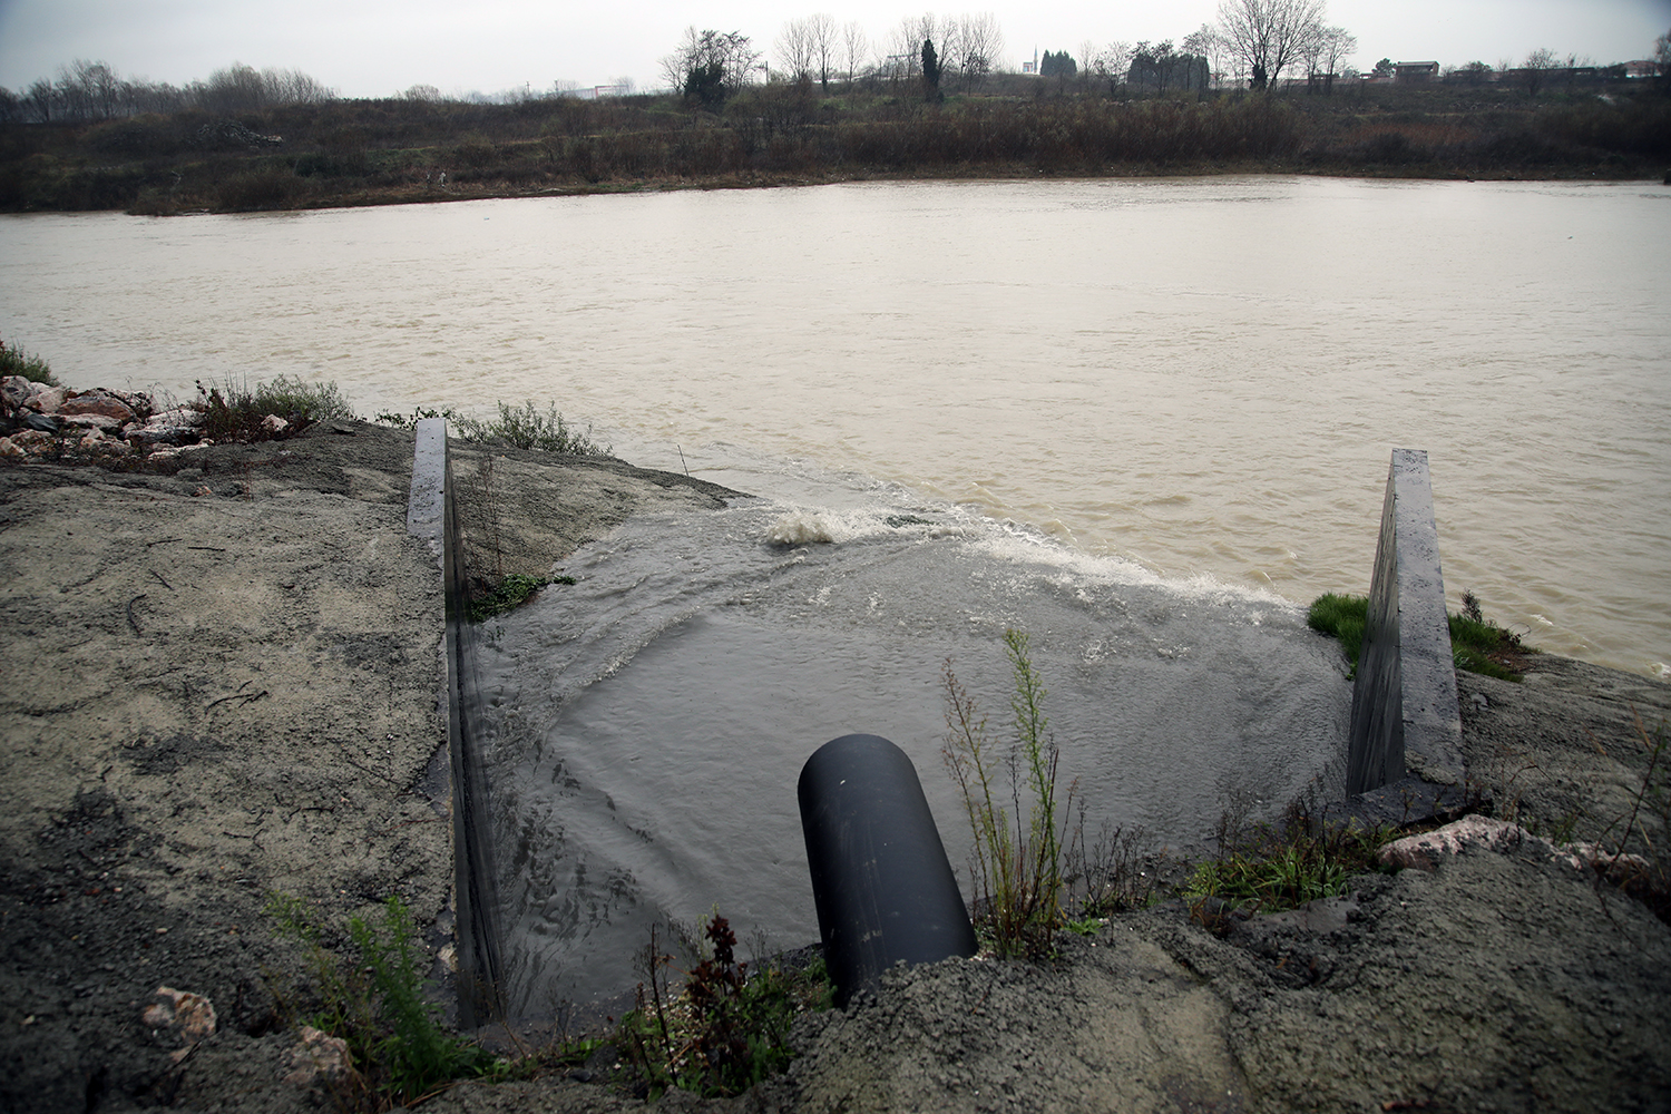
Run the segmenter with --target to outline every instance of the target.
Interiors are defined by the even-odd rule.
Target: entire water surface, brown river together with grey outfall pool
[[[794,772],[832,735],[907,748],[961,867],[936,678],[954,656],[1001,715],[1006,625],[1093,830],[1185,842],[1230,785],[1275,807],[1327,782],[1347,686],[1300,606],[1367,590],[1392,448],[1430,454],[1452,606],[1470,588],[1532,645],[1664,676],[1666,242],[1671,189],[1644,182],[7,217],[0,334],[72,386],[555,399],[635,464],[760,496],[566,558],[580,585],[495,638],[493,807],[533,880],[506,892],[513,994],[538,1010],[618,982],[662,915],[807,939]]]

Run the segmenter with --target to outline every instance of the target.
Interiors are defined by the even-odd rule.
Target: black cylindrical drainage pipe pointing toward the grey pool
[[[800,770],[800,832],[836,1004],[904,960],[978,945],[917,770],[879,735],[842,735]]]

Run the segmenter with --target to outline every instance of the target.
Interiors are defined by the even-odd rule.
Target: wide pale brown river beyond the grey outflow
[[[0,219],[0,332],[72,386],[556,401],[637,464],[797,499],[804,464],[857,473],[1302,603],[1367,588],[1389,451],[1420,448],[1452,603],[1664,676],[1666,242],[1646,182],[27,215]]]

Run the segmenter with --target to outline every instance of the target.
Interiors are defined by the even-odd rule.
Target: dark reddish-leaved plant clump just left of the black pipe
[[[673,995],[673,957],[652,929],[635,1007],[622,1017],[617,1044],[627,1051],[647,1091],[680,1087],[703,1096],[735,1096],[789,1066],[789,1029],[795,1015],[829,1009],[824,960],[802,970],[765,965],[749,974],[737,959],[737,934],[714,915],[703,929],[707,957]]]

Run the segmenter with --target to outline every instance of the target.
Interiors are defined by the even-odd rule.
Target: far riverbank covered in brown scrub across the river
[[[1542,95],[1355,87],[1333,95],[994,82],[922,104],[887,89],[518,104],[326,100],[0,127],[0,210],[274,210],[899,177],[1282,172],[1659,177],[1671,97],[1638,84]]]

